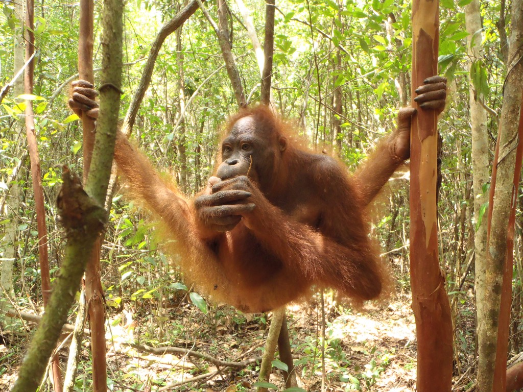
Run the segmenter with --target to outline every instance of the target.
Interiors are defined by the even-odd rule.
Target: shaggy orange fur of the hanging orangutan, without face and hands
[[[132,196],[165,224],[165,246],[188,279],[243,312],[300,301],[313,285],[333,287],[355,302],[386,292],[390,274],[369,239],[365,207],[395,169],[389,147],[381,146],[351,178],[334,159],[310,152],[267,107],[241,110],[226,123],[225,134],[246,116],[256,120],[264,137],[285,136],[288,144],[271,185],[259,189],[253,183],[254,211],[226,233],[206,228],[194,204],[118,137],[118,168]]]

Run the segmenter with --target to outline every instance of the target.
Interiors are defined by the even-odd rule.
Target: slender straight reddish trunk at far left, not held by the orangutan
[[[35,3],[33,0],[26,2],[26,61],[35,52]],[[32,94],[33,75],[35,73],[35,60],[33,59],[26,67],[24,79],[25,94]],[[35,199],[35,210],[38,230],[38,259],[40,262],[40,278],[42,283],[43,306],[47,307],[51,295],[51,276],[49,273],[49,253],[47,249],[47,225],[46,207],[43,201],[42,172],[40,170],[40,156],[35,133],[35,119],[33,117],[32,101],[26,101],[26,135],[27,149],[31,160],[31,180],[33,197]],[[62,392],[62,371],[60,370],[60,359],[58,354],[53,356],[51,362],[51,373],[54,392]]]

